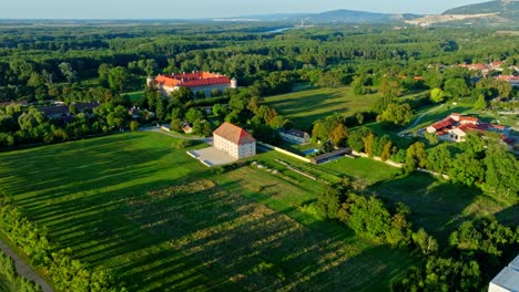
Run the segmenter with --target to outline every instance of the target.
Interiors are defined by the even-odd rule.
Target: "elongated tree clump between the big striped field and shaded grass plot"
[[[317,201],[304,207],[320,219],[338,220],[357,234],[379,243],[394,247],[414,247],[424,254],[438,251],[438,242],[424,229],[414,231],[407,219],[409,208],[398,202],[388,207],[370,194],[362,180],[350,180],[328,185],[323,188]]]

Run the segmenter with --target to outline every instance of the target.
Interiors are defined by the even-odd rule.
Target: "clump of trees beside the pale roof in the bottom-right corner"
[[[446,249],[424,252],[424,263],[411,268],[393,290],[482,291],[518,248],[519,226],[491,218],[465,221],[450,234]]]

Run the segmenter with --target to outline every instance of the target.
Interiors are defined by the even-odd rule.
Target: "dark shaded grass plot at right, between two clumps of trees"
[[[481,195],[478,188],[452,185],[421,173],[378,182],[374,190],[393,204],[407,205],[415,227],[425,228],[439,240],[466,219],[461,212]]]

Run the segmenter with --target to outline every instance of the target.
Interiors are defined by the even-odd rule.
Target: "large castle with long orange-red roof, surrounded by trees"
[[[149,77],[146,83],[147,86],[155,83],[164,93],[171,93],[180,87],[189,87],[193,93],[203,92],[205,96],[210,96],[213,90],[224,91],[237,87],[235,79],[230,80],[225,75],[196,71],[192,73],[159,75],[155,79]]]

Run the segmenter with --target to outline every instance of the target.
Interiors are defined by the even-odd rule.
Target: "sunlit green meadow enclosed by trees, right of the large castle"
[[[338,113],[353,115],[368,111],[379,97],[378,94],[358,96],[352,87],[319,88],[265,97],[265,104],[294,121],[297,128],[308,129],[325,116]]]

